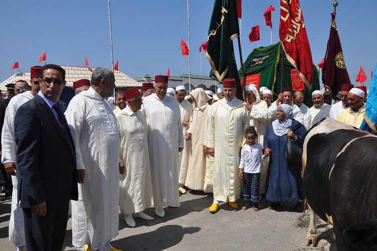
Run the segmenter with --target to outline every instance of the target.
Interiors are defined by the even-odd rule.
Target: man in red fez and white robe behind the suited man
[[[19,250],[26,248],[25,232],[23,227],[22,209],[17,206],[18,200],[18,179],[19,172],[16,166],[16,151],[14,136],[14,118],[17,110],[21,105],[34,98],[35,94],[40,90],[38,78],[40,76],[42,66],[34,66],[30,68],[30,85],[31,91],[20,90],[20,95],[15,96],[9,102],[4,118],[3,133],[1,134],[2,155],[1,163],[4,164],[5,171],[8,175],[12,175],[13,197],[11,204],[11,217],[9,220],[9,237]],[[34,83],[36,81],[36,83]],[[17,83],[16,83],[17,84]],[[27,86],[27,85],[26,85]],[[25,88],[16,87],[17,88]],[[16,90],[17,91],[17,90]]]

